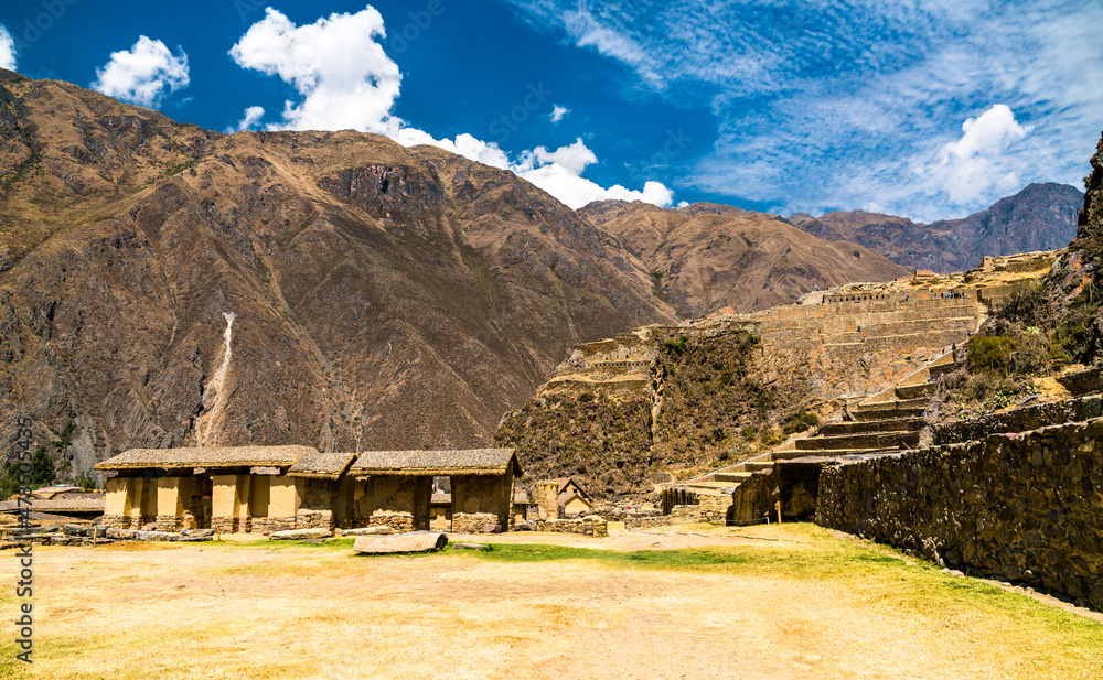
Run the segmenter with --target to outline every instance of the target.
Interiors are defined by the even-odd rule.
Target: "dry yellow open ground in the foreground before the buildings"
[[[808,547],[784,529],[740,533],[492,540],[618,550]],[[998,630],[967,611],[931,620],[831,580],[591,560],[353,558],[321,547],[36,548],[35,558],[30,677],[1100,677],[1091,668],[1028,669],[1019,657],[1029,661],[1030,648],[998,649]],[[0,606],[12,608],[3,597]],[[11,668],[0,665],[0,677]]]

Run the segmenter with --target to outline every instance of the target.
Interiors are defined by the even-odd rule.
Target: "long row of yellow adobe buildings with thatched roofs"
[[[320,453],[309,446],[136,449],[104,461],[104,522],[162,531],[386,525],[428,529],[433,476],[452,484],[452,531],[508,527],[513,449]]]

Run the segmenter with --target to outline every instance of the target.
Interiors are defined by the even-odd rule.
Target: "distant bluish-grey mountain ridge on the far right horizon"
[[[914,223],[865,211],[799,213],[790,224],[827,240],[861,244],[913,269],[964,271],[984,256],[1063,248],[1077,234],[1084,195],[1068,184],[1030,184],[1014,196],[961,219]]]

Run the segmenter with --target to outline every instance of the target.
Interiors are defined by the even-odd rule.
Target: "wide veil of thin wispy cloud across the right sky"
[[[713,150],[681,186],[780,212],[965,214],[1030,181],[1078,181],[1103,125],[1092,0],[508,1],[622,64],[632,87],[713,111]],[[966,121],[996,117],[1025,133],[947,151],[976,137]]]

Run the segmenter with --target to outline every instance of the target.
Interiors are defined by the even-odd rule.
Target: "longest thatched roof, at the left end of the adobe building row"
[[[288,467],[318,455],[312,446],[203,446],[191,449],[131,449],[96,465],[96,469],[181,467]]]

